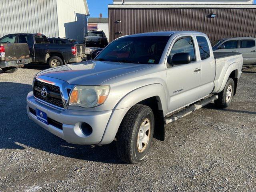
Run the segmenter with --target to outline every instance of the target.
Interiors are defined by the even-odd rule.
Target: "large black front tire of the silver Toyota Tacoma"
[[[148,131],[140,131],[142,124],[145,123],[148,126]],[[144,126],[142,126],[143,128]],[[139,136],[139,131],[141,135],[147,135],[146,144],[140,142],[142,149],[139,151],[140,138],[145,138],[145,136]],[[145,134],[144,134],[145,133]],[[119,127],[117,134],[117,152],[118,156],[124,162],[130,164],[136,164],[141,162],[150,149],[154,134],[154,114],[150,107],[146,105],[136,104],[130,108],[127,114],[124,116],[122,123]]]

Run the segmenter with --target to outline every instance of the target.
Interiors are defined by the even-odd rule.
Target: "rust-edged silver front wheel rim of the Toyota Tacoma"
[[[140,129],[138,132],[137,149],[139,152],[143,152],[146,149],[149,141],[149,136],[150,136],[150,120],[146,118],[140,125]]]

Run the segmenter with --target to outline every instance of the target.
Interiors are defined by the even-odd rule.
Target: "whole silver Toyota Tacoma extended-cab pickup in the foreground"
[[[123,36],[94,60],[36,74],[27,113],[69,143],[116,138],[119,157],[138,163],[153,136],[164,140],[165,124],[210,102],[229,106],[242,60],[238,53],[214,54],[200,32]]]

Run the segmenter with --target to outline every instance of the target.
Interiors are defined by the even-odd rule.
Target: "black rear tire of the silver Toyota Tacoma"
[[[232,90],[231,90],[230,99],[227,102],[226,96],[227,96],[227,90],[228,90],[229,86],[232,86]],[[218,108],[228,107],[232,101],[233,96],[234,96],[234,88],[235,88],[234,80],[232,78],[228,78],[228,81],[224,87],[224,90],[217,94],[218,99],[214,101],[215,106]]]

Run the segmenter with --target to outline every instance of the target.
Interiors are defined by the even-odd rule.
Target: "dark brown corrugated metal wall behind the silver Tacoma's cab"
[[[211,13],[216,13],[216,18],[209,18]],[[108,8],[108,15],[110,41],[128,34],[166,30],[204,32],[211,41],[256,37],[255,8]]]

